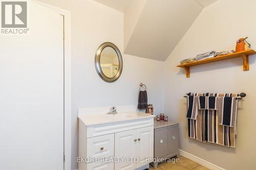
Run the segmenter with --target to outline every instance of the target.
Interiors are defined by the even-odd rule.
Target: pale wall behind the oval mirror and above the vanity
[[[113,42],[123,53],[123,13],[93,0],[40,0],[71,11],[72,46],[72,169],[77,168],[77,108],[137,105],[139,83],[147,86],[148,102],[155,113],[163,111],[164,63],[122,55],[123,72],[114,83],[98,76],[94,57],[97,47]]]

